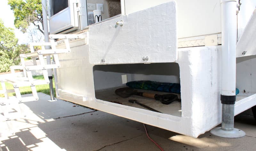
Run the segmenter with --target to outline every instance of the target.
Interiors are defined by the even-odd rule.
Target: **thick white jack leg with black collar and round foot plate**
[[[245,133],[234,128],[234,109],[236,101],[236,0],[221,0],[221,45],[222,45],[222,103],[221,127],[212,134],[237,138]]]

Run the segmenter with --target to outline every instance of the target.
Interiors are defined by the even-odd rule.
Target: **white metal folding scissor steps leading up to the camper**
[[[16,108],[16,112],[19,113],[20,116],[26,117],[24,114],[24,110],[22,105],[24,102],[29,101],[37,101],[38,95],[36,91],[36,85],[44,85],[49,84],[48,72],[47,69],[56,69],[60,68],[60,62],[58,58],[58,54],[61,53],[70,53],[70,45],[69,41],[76,40],[76,39],[85,39],[87,35],[81,34],[55,34],[49,35],[50,42],[39,42],[39,43],[30,43],[30,53],[27,54],[20,54],[20,61],[21,65],[19,66],[11,66],[11,75],[8,78],[0,79],[1,86],[3,90],[0,90],[0,94],[4,94],[4,98],[0,99],[0,105],[4,114],[4,118],[8,125],[9,130],[14,134],[13,125],[11,120],[16,119],[16,117],[10,116],[10,110],[12,110],[11,104],[18,104],[19,108]],[[58,42],[55,42],[55,39],[62,39]],[[57,44],[65,44],[65,49],[57,49]],[[40,50],[35,51],[35,46],[41,46]],[[51,47],[51,49],[47,49]],[[55,64],[47,64],[44,62],[45,56],[52,56],[54,57]],[[26,65],[25,58],[31,57],[33,60],[33,65]],[[37,64],[36,59],[39,59],[40,64]],[[24,76],[17,77],[15,76],[15,69],[23,70]],[[43,72],[44,79],[38,80],[33,79],[32,71],[41,70]],[[7,89],[5,86],[5,82],[9,82],[13,85],[13,89]],[[20,94],[19,87],[30,86],[33,96],[26,96],[22,97]],[[16,96],[10,97],[8,93],[15,92]]]

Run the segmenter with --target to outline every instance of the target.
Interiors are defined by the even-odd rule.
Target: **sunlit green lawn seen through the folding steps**
[[[43,80],[44,76],[42,76],[42,75],[33,76],[33,78]],[[54,89],[54,92],[55,92],[54,78],[52,79],[52,81],[53,81],[53,89]],[[8,82],[5,82],[5,86],[6,86],[6,89],[13,89],[12,84],[10,84]],[[0,85],[0,90],[2,90],[2,89],[3,88]],[[49,84],[36,86],[36,91],[50,95]],[[20,87],[20,94],[31,94],[31,93],[32,93],[32,91],[31,91],[31,88],[29,86],[28,87]],[[8,95],[9,96],[15,96],[15,93],[9,93]],[[55,93],[54,93],[54,95],[55,95]],[[0,94],[0,97],[4,97],[4,94]],[[55,95],[55,97],[56,97],[56,95]]]

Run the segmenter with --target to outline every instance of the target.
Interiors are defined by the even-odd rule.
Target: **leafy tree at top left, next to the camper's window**
[[[8,4],[14,12],[16,28],[25,33],[32,23],[44,34],[41,0],[8,0]]]

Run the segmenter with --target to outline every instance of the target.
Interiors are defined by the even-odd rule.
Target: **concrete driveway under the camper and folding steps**
[[[38,95],[39,101],[24,104],[26,117],[12,121],[15,135],[9,134],[0,110],[3,151],[159,150],[147,138],[142,123],[62,100],[47,102],[50,96]],[[15,114],[15,107],[12,110]],[[251,110],[235,117],[235,127],[246,136],[226,139],[206,132],[195,139],[147,125],[149,136],[165,151],[255,151],[256,122]]]

